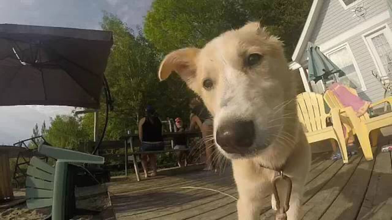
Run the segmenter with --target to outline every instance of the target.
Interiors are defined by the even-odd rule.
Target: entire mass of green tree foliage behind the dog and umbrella
[[[221,32],[260,20],[285,41],[291,57],[312,0],[155,0],[145,17],[143,31],[132,30],[115,15],[104,13],[102,29],[112,31],[114,44],[105,76],[114,99],[105,139],[115,140],[127,130],[137,130],[147,104],[161,117],[189,118],[189,101],[195,96],[178,76],[159,82],[160,61],[181,47],[203,47]],[[102,96],[98,132],[105,121]],[[74,149],[80,141],[93,140],[94,116],[57,115],[49,128],[45,122],[33,136],[44,135],[55,146]]]

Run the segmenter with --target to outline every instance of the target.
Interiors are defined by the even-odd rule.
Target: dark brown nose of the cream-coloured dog
[[[228,153],[241,153],[254,141],[253,121],[222,123],[216,131],[216,142]]]

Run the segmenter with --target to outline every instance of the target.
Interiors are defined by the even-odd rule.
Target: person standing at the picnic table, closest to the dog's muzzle
[[[199,101],[197,98],[194,98],[191,101],[190,107],[192,108],[192,110],[190,116],[191,124],[189,126],[189,130],[192,131],[192,130],[199,129],[201,131],[201,135],[203,137],[203,141],[205,144],[205,154],[206,154],[205,155],[206,167],[204,170],[211,170],[212,169],[211,155],[215,148],[214,140],[212,138],[214,133],[213,117],[210,114],[210,112],[207,110],[207,108],[203,105],[203,103]]]

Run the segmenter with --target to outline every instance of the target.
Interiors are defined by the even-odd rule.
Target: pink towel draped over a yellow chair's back
[[[345,106],[351,106],[357,116],[362,116],[369,108],[370,102],[362,100],[360,97],[348,91],[347,87],[340,83],[333,83],[328,90],[332,91],[339,102]]]

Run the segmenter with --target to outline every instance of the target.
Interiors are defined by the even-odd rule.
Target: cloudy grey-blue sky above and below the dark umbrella
[[[0,23],[100,30],[102,11],[116,14],[132,29],[143,26],[152,0],[0,0]],[[56,114],[71,114],[68,106],[0,106],[0,144],[31,136],[36,123]]]

